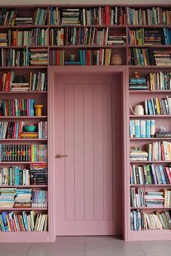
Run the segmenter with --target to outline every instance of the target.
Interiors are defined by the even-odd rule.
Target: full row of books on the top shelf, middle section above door
[[[126,23],[122,7],[93,7],[58,9],[50,7],[49,23],[52,25],[123,25]]]

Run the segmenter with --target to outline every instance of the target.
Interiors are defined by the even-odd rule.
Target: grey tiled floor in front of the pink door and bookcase
[[[0,256],[144,255],[171,255],[171,241],[124,242],[112,236],[65,236],[48,244],[0,244]]]

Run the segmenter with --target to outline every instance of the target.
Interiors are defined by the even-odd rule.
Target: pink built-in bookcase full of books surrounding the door
[[[44,203],[44,207],[40,208],[36,207],[36,203],[32,205],[31,202],[28,203],[29,207],[27,203],[23,203],[23,207],[21,205],[20,208],[15,207],[13,201],[16,195],[12,199],[13,206],[11,202],[10,208],[0,205],[0,216],[3,216],[3,221],[7,218],[6,226],[1,227],[0,241],[19,241],[20,238],[25,242],[55,240],[55,197],[52,195],[55,191],[55,187],[52,186],[55,170],[52,169],[52,158],[54,157],[51,143],[52,128],[48,131],[48,127],[52,123],[52,111],[55,109],[51,105],[53,91],[51,88],[52,77],[49,77],[49,73],[51,69],[54,70],[55,66],[60,66],[57,67],[57,70],[60,70],[60,74],[65,75],[65,71],[68,72],[70,66],[73,66],[72,72],[75,66],[77,73],[82,72],[81,68],[86,69],[87,73],[80,73],[86,76],[91,72],[89,66],[100,66],[102,70],[106,71],[106,74],[108,71],[111,74],[113,70],[114,76],[117,76],[118,72],[115,66],[109,67],[113,55],[120,56],[122,63],[119,65],[119,71],[123,69],[125,77],[125,80],[122,81],[124,83],[122,93],[125,97],[125,104],[123,103],[125,128],[123,134],[125,146],[125,150],[123,149],[124,233],[122,235],[125,240],[171,239],[169,226],[165,229],[162,227],[160,230],[149,230],[146,223],[144,225],[147,227],[146,230],[136,228],[138,220],[140,218],[145,220],[149,216],[148,214],[167,212],[166,215],[169,217],[170,206],[148,207],[145,203],[144,206],[133,207],[130,203],[131,191],[135,191],[136,194],[141,189],[146,195],[151,192],[161,192],[164,189],[170,190],[171,183],[167,177],[167,171],[170,170],[168,169],[170,168],[170,158],[167,160],[148,160],[148,158],[130,160],[130,147],[132,146],[146,151],[148,144],[154,142],[162,144],[162,141],[170,142],[171,140],[170,137],[155,136],[161,126],[171,131],[171,112],[167,106],[164,110],[164,106],[161,105],[163,109],[159,109],[157,113],[154,112],[155,115],[151,115],[148,111],[146,115],[134,115],[130,110],[130,106],[134,109],[139,104],[146,109],[145,106],[148,101],[151,101],[151,98],[154,99],[154,103],[160,102],[162,99],[165,102],[166,98],[171,97],[170,12],[170,5],[109,6],[103,4],[0,7],[1,176],[2,173],[4,176],[9,172],[5,181],[0,180],[0,188],[6,188],[7,193],[12,188],[15,191],[19,188],[23,191],[30,190],[31,198],[33,198],[33,194],[35,195],[33,191],[37,191],[36,195],[44,191],[49,198],[48,205]],[[78,66],[80,66],[79,69]],[[93,72],[95,74],[95,69]],[[98,72],[100,69],[97,70],[97,74]],[[134,83],[130,85],[131,79],[136,76],[145,78],[146,82],[142,82],[142,80],[136,86]],[[31,101],[27,102],[27,99],[31,99]],[[35,115],[36,109],[32,105],[43,105],[41,116]],[[157,107],[160,108],[160,106],[156,106],[156,109]],[[155,123],[152,135],[151,126],[149,126],[148,136],[144,133],[140,137],[134,134],[130,136],[130,123],[143,123],[147,126],[151,124],[151,120]],[[25,133],[25,125],[36,125],[36,131],[32,133],[32,136]],[[42,162],[41,159],[34,158],[33,154],[31,158],[28,157],[29,150],[32,148],[49,150],[48,159]],[[12,152],[14,152],[13,156],[10,157]],[[44,150],[44,154],[46,155],[47,151]],[[142,181],[139,183],[132,181],[135,177],[130,177],[132,174],[130,166],[138,169],[142,166],[151,168],[151,165],[154,165],[154,171],[157,166],[162,166],[163,175],[165,175],[165,179],[168,179],[166,184],[162,177],[162,182],[156,182],[156,184],[153,180],[145,182],[145,184],[141,184]],[[40,180],[43,183],[37,179],[36,168],[39,167],[43,175]],[[20,173],[17,181],[14,178],[17,175],[15,175],[16,169]],[[136,175],[138,177],[139,173],[135,173]],[[154,217],[154,215],[151,216]],[[38,218],[37,222],[36,217]],[[130,218],[133,220],[131,223]],[[31,224],[33,220],[36,225],[35,229],[33,223]],[[153,224],[151,221],[151,225]],[[20,231],[3,232],[4,230]]]

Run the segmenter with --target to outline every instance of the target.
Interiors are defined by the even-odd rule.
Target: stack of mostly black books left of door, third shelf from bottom
[[[47,185],[47,164],[33,163],[30,166],[31,185]]]

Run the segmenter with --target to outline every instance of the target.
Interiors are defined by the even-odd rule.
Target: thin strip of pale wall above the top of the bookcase
[[[170,0],[0,0],[0,4],[170,4]]]

